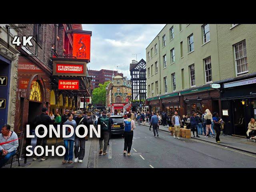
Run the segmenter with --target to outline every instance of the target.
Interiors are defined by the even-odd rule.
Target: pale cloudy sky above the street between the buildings
[[[83,24],[92,31],[90,70],[116,70],[130,78],[132,60],[146,61],[146,47],[165,24]]]

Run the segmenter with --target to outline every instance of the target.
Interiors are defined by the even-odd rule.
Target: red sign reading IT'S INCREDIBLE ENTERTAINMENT
[[[84,65],[56,64],[56,73],[83,74]]]

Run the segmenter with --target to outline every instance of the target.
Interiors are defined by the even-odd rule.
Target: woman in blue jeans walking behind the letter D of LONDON
[[[64,147],[66,149],[66,153],[64,155],[64,160],[62,161],[62,164],[66,163],[68,160],[68,163],[73,162],[73,146],[75,141],[75,132],[76,132],[76,121],[73,120],[73,114],[68,114],[68,120],[64,122],[64,125],[71,125],[74,128],[74,133],[71,137],[63,138],[64,140]],[[66,135],[69,135],[71,133],[70,128],[66,127]],[[68,150],[68,143],[69,143],[69,150]]]

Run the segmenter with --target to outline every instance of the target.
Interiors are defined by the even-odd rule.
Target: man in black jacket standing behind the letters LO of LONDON
[[[37,138],[36,146],[41,145],[41,143],[42,143],[42,147],[44,148],[44,154],[42,155],[41,161],[44,161],[44,160],[48,159],[48,157],[45,156],[45,150],[46,150],[46,143],[49,138],[49,125],[52,125],[54,123],[54,120],[51,120],[50,116],[48,116],[46,114],[47,108],[43,107],[41,111],[42,111],[42,114],[36,116],[35,124],[36,124],[36,126],[45,125],[48,130],[48,133],[44,138]],[[39,128],[38,133],[40,135],[43,135],[44,129]],[[38,156],[34,155],[33,160],[37,160],[38,158],[39,158]]]

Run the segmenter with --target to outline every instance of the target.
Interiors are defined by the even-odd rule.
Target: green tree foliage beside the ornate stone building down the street
[[[106,86],[110,81],[104,82],[104,84],[99,84],[99,87],[92,91],[92,104],[102,104],[106,105]]]

